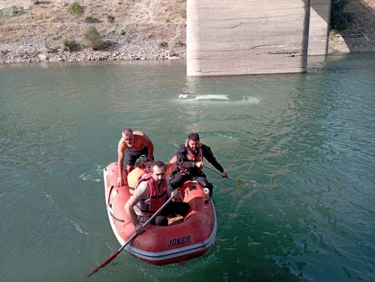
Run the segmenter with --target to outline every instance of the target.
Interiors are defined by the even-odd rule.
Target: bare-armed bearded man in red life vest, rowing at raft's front
[[[190,205],[178,202],[181,198],[180,190],[173,190],[168,180],[165,179],[165,164],[156,160],[151,165],[151,173],[142,176],[134,191],[125,204],[125,211],[134,225],[135,232],[138,234],[144,231],[141,223],[146,222],[166,201],[167,196],[174,196],[172,200],[150,224],[168,226],[168,219],[165,217],[170,214],[186,216]],[[173,202],[176,201],[176,202]]]

